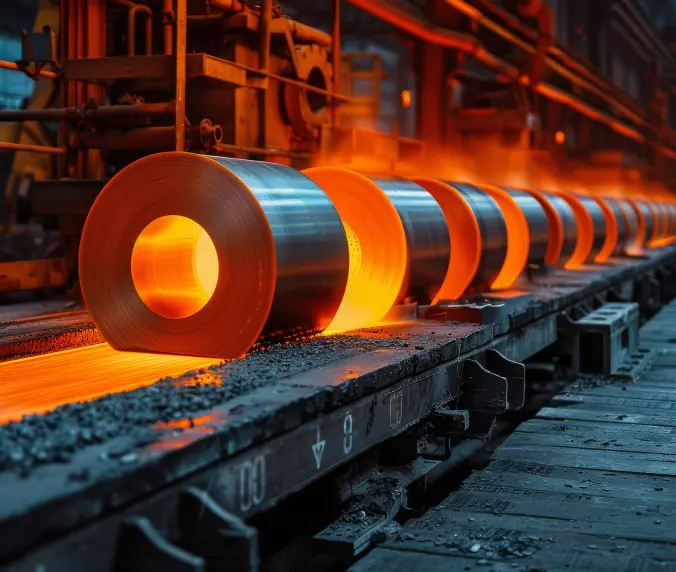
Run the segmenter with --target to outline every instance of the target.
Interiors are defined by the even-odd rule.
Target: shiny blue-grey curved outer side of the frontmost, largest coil
[[[290,167],[214,160],[251,190],[272,229],[277,282],[262,334],[325,328],[340,306],[349,271],[345,230],[326,193]]]

